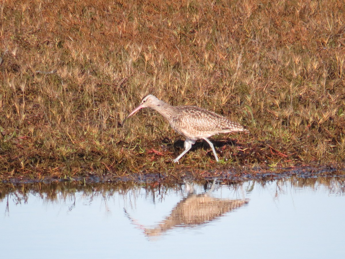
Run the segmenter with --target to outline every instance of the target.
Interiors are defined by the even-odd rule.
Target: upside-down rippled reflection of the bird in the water
[[[248,199],[219,199],[209,195],[214,189],[215,181],[209,192],[194,194],[193,188],[186,188],[186,198],[176,204],[169,216],[154,227],[146,228],[131,218],[125,210],[127,217],[138,228],[144,231],[147,237],[157,237],[169,229],[200,226],[220,218],[227,212],[236,210],[248,203]]]

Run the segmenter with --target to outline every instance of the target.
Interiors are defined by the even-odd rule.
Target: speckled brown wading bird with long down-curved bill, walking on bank
[[[218,156],[215,148],[208,140],[208,137],[219,133],[230,133],[237,131],[248,132],[242,125],[232,122],[229,119],[207,111],[206,109],[197,106],[171,106],[164,101],[158,99],[154,95],[148,95],[141,100],[141,103],[136,107],[123,121],[135,114],[141,108],[149,107],[159,112],[167,119],[170,126],[180,135],[186,138],[184,147],[185,150],[174,160],[178,160],[186,154],[192,145],[199,139],[205,140],[212,148],[213,154],[218,162]]]

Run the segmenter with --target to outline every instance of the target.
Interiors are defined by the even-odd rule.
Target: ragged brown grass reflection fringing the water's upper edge
[[[255,182],[259,183],[262,186],[266,184],[272,184],[271,179],[269,180],[255,180]],[[291,186],[291,188],[298,189],[298,188],[311,188],[317,189],[318,186],[324,185],[329,190],[330,193],[336,193],[339,195],[345,194],[345,184],[343,178],[336,178],[336,177],[323,177],[318,176],[316,178],[300,178],[296,176],[292,176],[289,178],[281,178],[274,180],[277,185],[277,190],[283,190],[283,186]],[[212,182],[195,182],[204,188],[209,189]],[[246,183],[244,181],[239,182],[221,182],[220,184],[228,184],[229,188],[233,190],[242,189],[243,184]],[[250,184],[251,187],[254,185]],[[131,190],[140,189],[144,187],[147,192],[148,199],[157,199],[157,195],[159,194],[161,199],[164,199],[164,196],[167,195],[168,189],[174,189],[176,192],[181,191],[180,184],[175,183],[166,183],[160,184],[158,182],[152,182],[148,184],[137,184],[134,182],[118,182],[118,183],[93,183],[93,184],[80,184],[78,182],[53,182],[50,184],[43,184],[43,183],[27,183],[22,185],[13,185],[13,184],[1,184],[0,185],[0,201],[3,202],[7,199],[8,195],[11,195],[14,200],[17,200],[18,203],[27,200],[28,194],[35,194],[42,197],[45,201],[57,201],[59,199],[69,199],[72,197],[76,192],[83,192],[86,196],[98,196],[101,195],[103,197],[111,196],[115,192],[119,192],[120,194],[126,195]],[[248,186],[249,187],[249,186]],[[216,185],[217,188],[217,185]],[[247,191],[250,192],[252,189],[248,189]],[[286,190],[286,187],[285,189]],[[135,199],[135,195],[133,196]]]

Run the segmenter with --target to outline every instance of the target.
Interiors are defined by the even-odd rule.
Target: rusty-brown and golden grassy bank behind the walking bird
[[[2,179],[344,162],[343,1],[0,8]],[[211,138],[220,164],[203,143],[173,164],[183,146],[160,115],[120,127],[149,93],[250,134]]]

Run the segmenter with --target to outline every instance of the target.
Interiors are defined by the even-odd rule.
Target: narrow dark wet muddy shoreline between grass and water
[[[296,176],[298,178],[317,178],[317,177],[339,177],[345,178],[345,167],[334,165],[301,165],[290,167],[233,167],[229,170],[192,170],[186,169],[176,173],[171,172],[140,172],[119,176],[115,174],[106,174],[101,177],[89,174],[88,176],[75,176],[69,178],[58,178],[54,176],[45,176],[42,178],[30,178],[24,175],[9,178],[0,181],[0,184],[26,184],[26,183],[53,183],[53,182],[75,182],[75,183],[117,183],[117,182],[135,182],[135,183],[181,183],[184,180],[209,181],[217,179],[224,183],[237,183],[247,180],[276,180]]]

